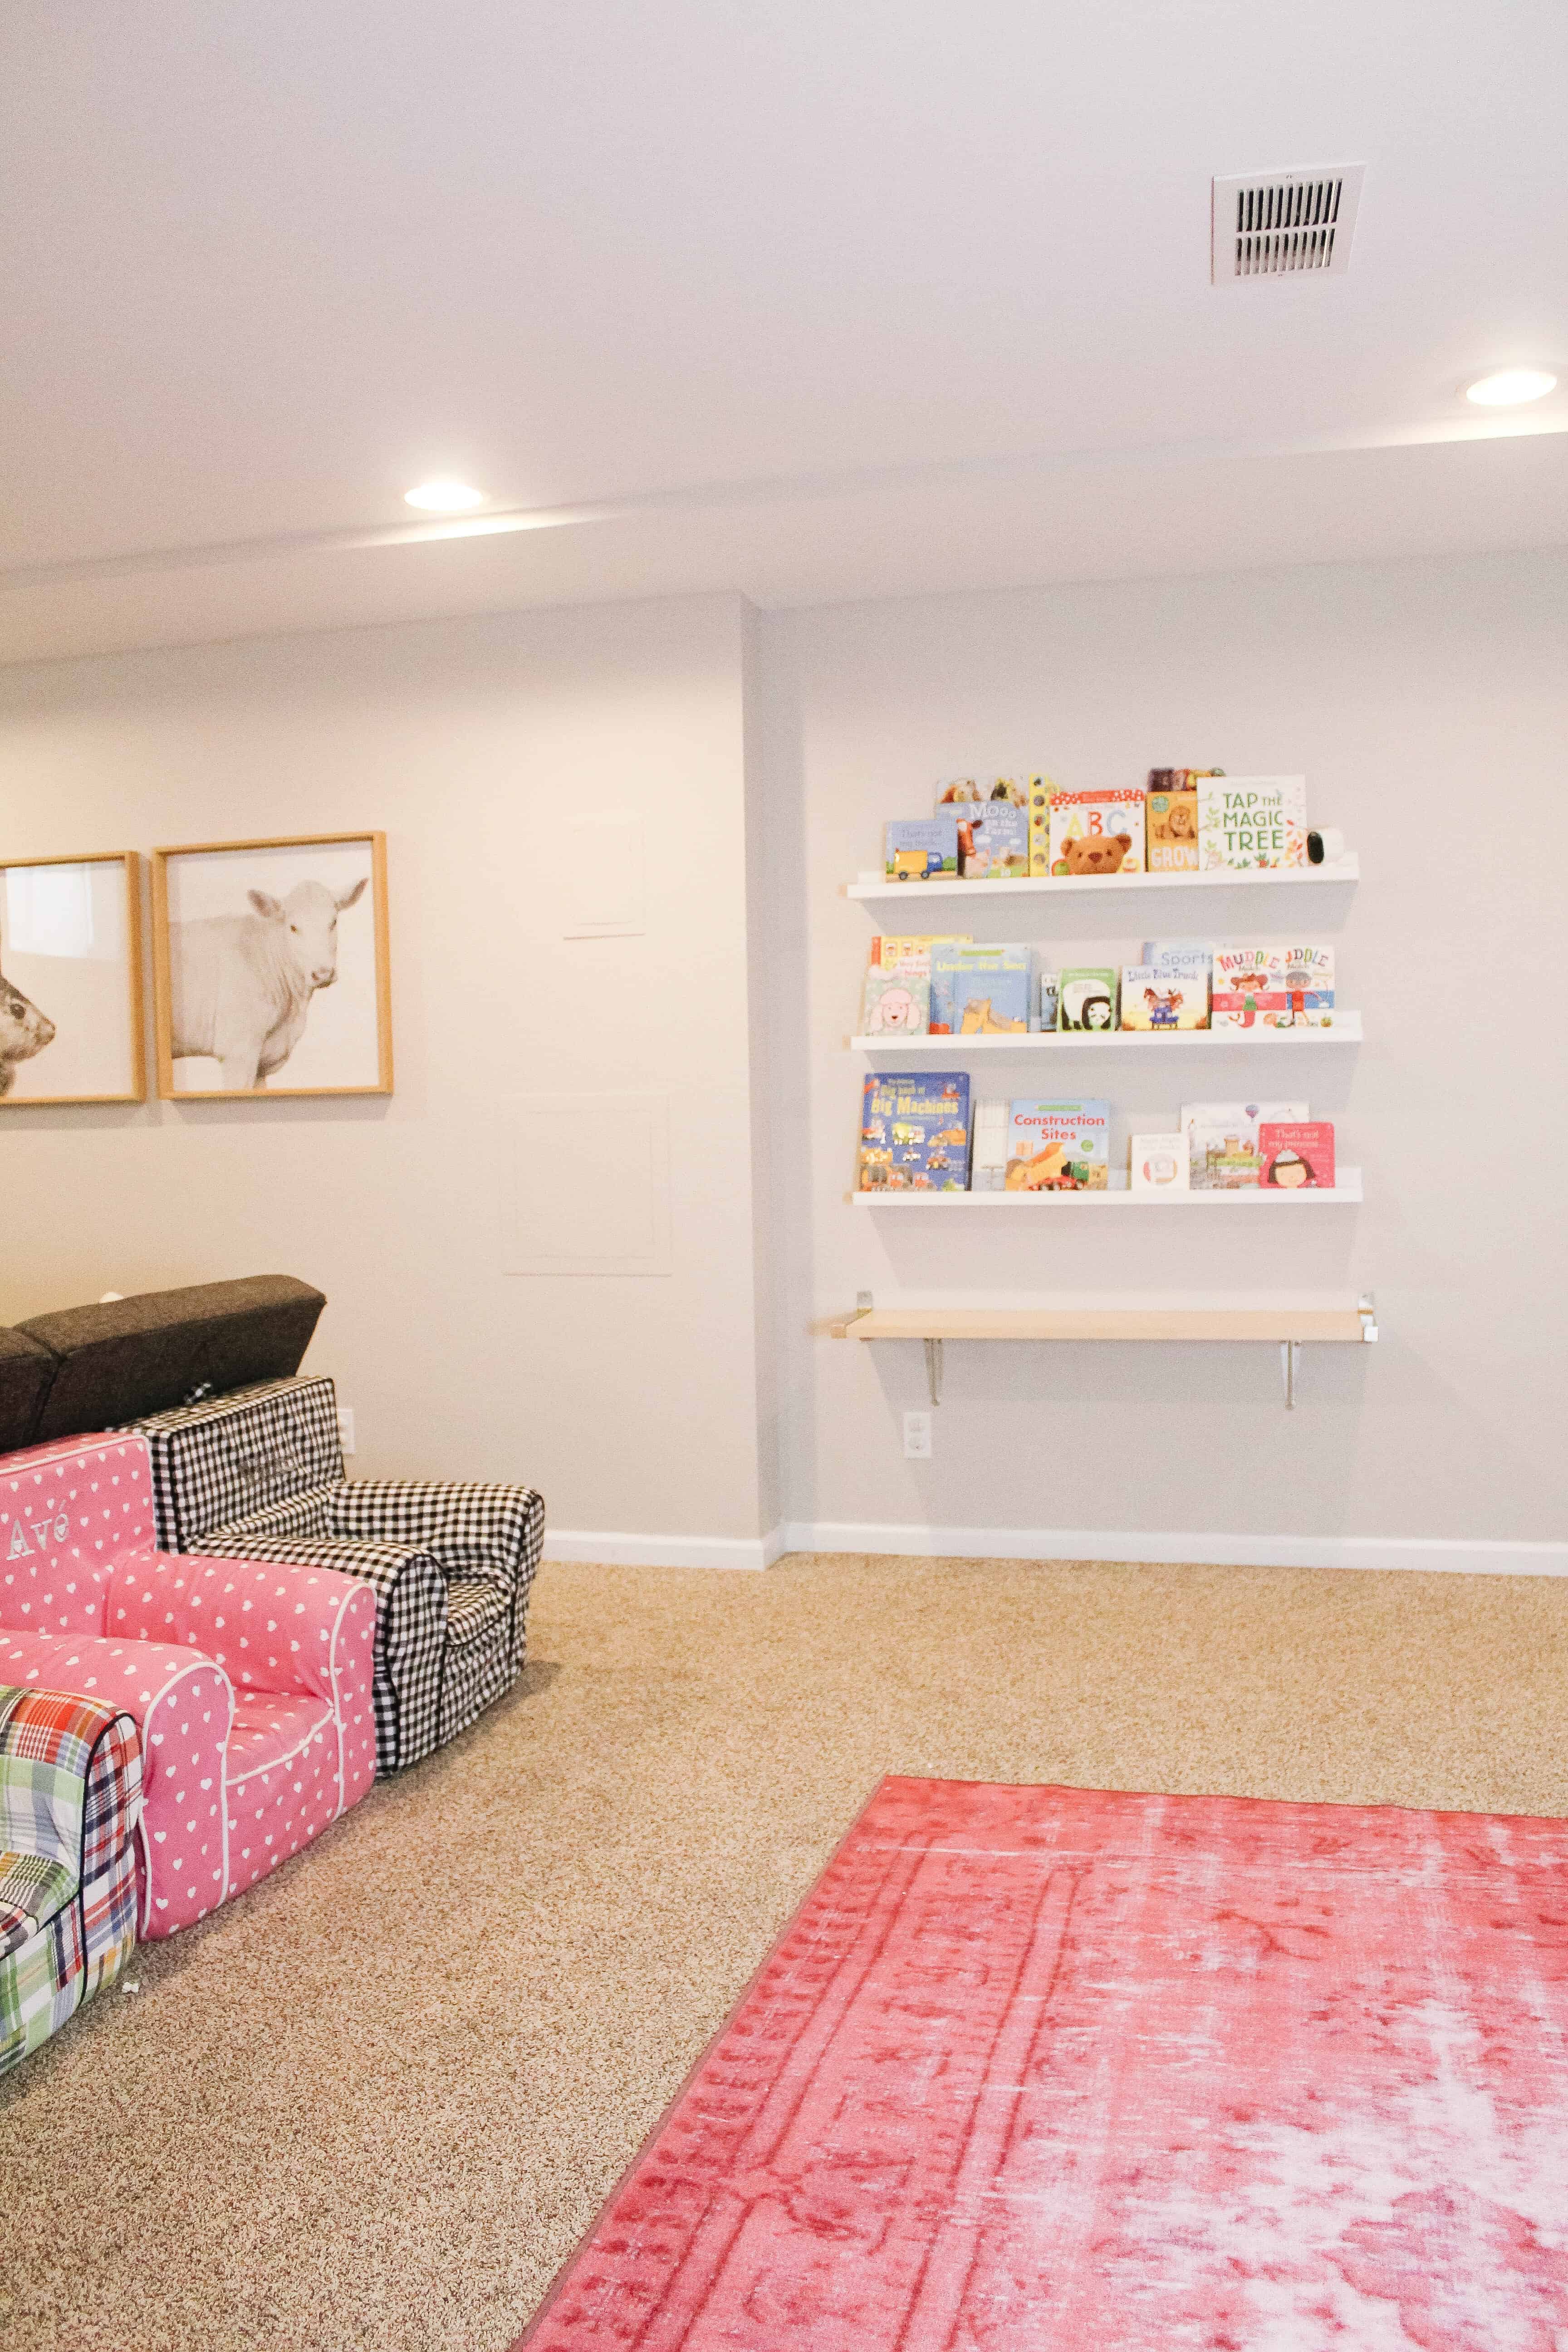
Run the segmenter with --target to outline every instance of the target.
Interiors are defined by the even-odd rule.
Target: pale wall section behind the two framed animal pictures
[[[386,828],[397,1049],[390,1101],[7,1108],[0,1319],[296,1272],[362,1475],[757,1557],[743,630],[698,597],[0,673],[5,856]],[[646,818],[644,938],[559,936],[595,804]],[[672,1275],[503,1275],[498,1105],[616,1089],[670,1094]]]

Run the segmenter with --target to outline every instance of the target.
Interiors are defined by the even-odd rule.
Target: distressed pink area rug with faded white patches
[[[1568,1823],[884,1780],[529,2352],[1568,2352]]]

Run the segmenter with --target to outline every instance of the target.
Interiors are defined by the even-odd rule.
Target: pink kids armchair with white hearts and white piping
[[[12,1350],[0,1404],[24,1374]],[[350,1576],[158,1552],[146,1439],[0,1454],[0,1684],[136,1724],[143,1936],[205,1919],[360,1802],[374,1644],[376,1597]]]

